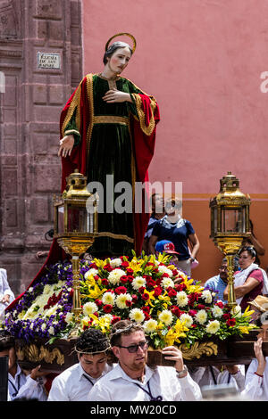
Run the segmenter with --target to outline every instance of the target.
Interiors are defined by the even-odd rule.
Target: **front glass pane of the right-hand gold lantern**
[[[222,209],[222,232],[245,233],[245,211],[242,208]]]

